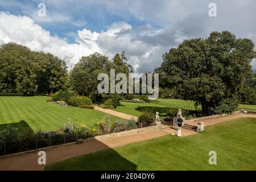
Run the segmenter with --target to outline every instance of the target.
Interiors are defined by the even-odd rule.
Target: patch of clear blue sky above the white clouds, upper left
[[[3,1],[3,0],[2,0]],[[44,18],[36,17],[34,18],[34,11],[39,10],[38,4],[39,3],[46,4],[46,12],[50,16],[52,14],[59,14],[62,16],[61,18],[56,21],[44,21]],[[133,27],[138,27],[143,24],[147,24],[148,22],[135,18],[133,14],[126,14],[125,16],[114,14],[106,10],[104,4],[98,4],[97,6],[93,3],[86,3],[86,7],[84,4],[81,6],[81,1],[69,1],[69,3],[65,6],[63,3],[49,3],[50,1],[29,1],[29,0],[22,0],[22,1],[3,1],[0,3],[1,11],[9,12],[13,15],[26,15],[31,17],[42,26],[45,30],[51,32],[52,35],[57,35],[60,38],[67,38],[69,43],[74,43],[75,39],[67,35],[70,32],[76,32],[81,30],[82,27],[86,27],[90,31],[94,32],[101,32],[106,31],[107,27],[114,22],[125,21]],[[85,1],[86,2],[86,1]],[[22,6],[20,6],[22,5]],[[68,19],[68,20],[65,20]],[[71,23],[69,21],[73,21]],[[75,23],[77,22],[77,23]]]

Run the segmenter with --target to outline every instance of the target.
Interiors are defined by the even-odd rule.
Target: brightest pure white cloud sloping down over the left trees
[[[51,36],[27,16],[15,16],[0,13],[0,42],[14,42],[29,47],[32,51],[49,52],[66,60],[69,66],[77,63],[83,55],[89,55],[98,49],[86,44],[68,44],[65,40]]]

